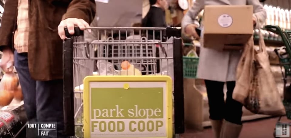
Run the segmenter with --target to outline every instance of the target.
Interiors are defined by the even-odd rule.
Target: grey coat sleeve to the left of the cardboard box
[[[181,22],[182,30],[185,30],[187,25],[194,23],[196,16],[203,8],[204,0],[196,0],[195,2],[193,2],[191,9],[187,11],[187,13],[184,15],[182,19]]]

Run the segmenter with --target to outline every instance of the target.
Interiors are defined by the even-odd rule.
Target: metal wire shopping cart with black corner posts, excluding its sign
[[[175,137],[184,133],[183,60],[181,28],[94,27],[97,38],[84,40],[75,27],[63,42],[65,133],[83,137],[83,79],[121,74],[123,61],[142,75],[168,75],[173,81]],[[86,30],[85,30],[86,31]],[[94,72],[94,73],[93,73]],[[135,74],[134,72],[133,74]],[[95,75],[96,75],[95,74]],[[175,78],[175,79],[174,79]]]

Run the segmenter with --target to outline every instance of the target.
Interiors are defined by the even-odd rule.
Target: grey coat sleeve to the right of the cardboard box
[[[253,17],[256,19],[255,28],[260,28],[266,21],[266,10],[263,8],[263,5],[259,0],[247,0],[248,5],[253,5],[254,14]]]

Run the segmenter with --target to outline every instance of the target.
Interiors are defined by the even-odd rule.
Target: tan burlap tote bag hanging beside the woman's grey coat
[[[248,67],[239,63],[240,66],[237,69],[238,85],[234,89],[233,99],[238,100],[246,109],[256,114],[285,115],[286,111],[271,71],[269,55],[261,32],[259,32],[259,51],[254,50],[254,44],[251,42],[246,45],[244,52],[247,51],[251,54],[244,53],[244,57],[242,57],[244,59],[240,62]]]

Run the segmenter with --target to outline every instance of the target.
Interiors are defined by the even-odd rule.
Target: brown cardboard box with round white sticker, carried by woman
[[[240,50],[253,35],[253,6],[207,5],[203,26],[205,48]]]

